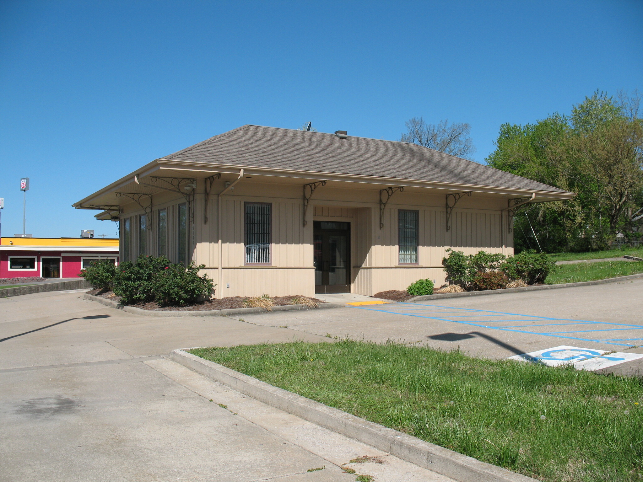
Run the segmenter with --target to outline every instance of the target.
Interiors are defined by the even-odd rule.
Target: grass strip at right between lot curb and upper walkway
[[[545,284],[577,283],[578,281],[605,280],[643,272],[642,261],[602,261],[557,265],[556,271],[547,276]]]

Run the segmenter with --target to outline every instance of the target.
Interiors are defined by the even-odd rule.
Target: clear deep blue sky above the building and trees
[[[2,233],[113,237],[71,204],[246,123],[395,140],[424,116],[501,123],[643,88],[643,2],[0,2]]]

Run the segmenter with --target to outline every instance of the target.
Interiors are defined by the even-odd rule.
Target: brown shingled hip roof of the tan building
[[[566,193],[415,144],[244,125],[163,159]]]

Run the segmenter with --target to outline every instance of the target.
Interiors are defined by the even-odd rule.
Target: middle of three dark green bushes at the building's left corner
[[[121,263],[114,276],[114,294],[121,297],[123,305],[154,301],[156,275],[172,263],[165,256],[141,254],[135,262]]]

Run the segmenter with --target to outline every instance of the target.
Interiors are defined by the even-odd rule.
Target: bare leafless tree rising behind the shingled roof
[[[408,131],[400,138],[402,142],[418,144],[473,161],[469,154],[476,152],[476,148],[469,137],[471,125],[467,123],[449,125],[449,120],[445,119],[435,125],[427,124],[421,117],[414,117],[406,121],[406,129]]]

